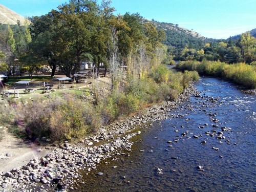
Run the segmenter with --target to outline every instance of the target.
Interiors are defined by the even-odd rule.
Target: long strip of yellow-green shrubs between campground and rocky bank
[[[9,101],[1,106],[1,110],[8,109],[9,115],[15,115],[16,120],[23,119],[26,133],[33,139],[71,140],[95,132],[101,125],[140,112],[153,103],[176,99],[191,81],[198,79],[195,71],[173,73],[160,65],[145,78],[128,76],[123,86],[112,90],[107,97],[95,99],[95,102],[84,102],[79,94],[69,92],[54,99],[41,97]]]

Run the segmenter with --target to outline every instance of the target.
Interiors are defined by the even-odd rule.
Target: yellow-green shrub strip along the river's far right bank
[[[197,71],[199,74],[227,78],[246,88],[256,88],[256,66],[245,63],[226,64],[220,61],[181,61],[177,64],[181,70]]]

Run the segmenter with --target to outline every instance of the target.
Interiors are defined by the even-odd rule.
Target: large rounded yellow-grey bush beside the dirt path
[[[16,118],[23,118],[32,139],[50,137],[53,141],[80,138],[101,125],[93,106],[74,95],[54,100],[35,99],[20,104]]]

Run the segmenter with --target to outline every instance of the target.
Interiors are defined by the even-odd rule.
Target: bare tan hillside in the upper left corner
[[[8,9],[7,7],[0,5],[0,23],[16,25],[17,20],[20,21],[21,25],[24,25],[25,18],[16,12]]]

